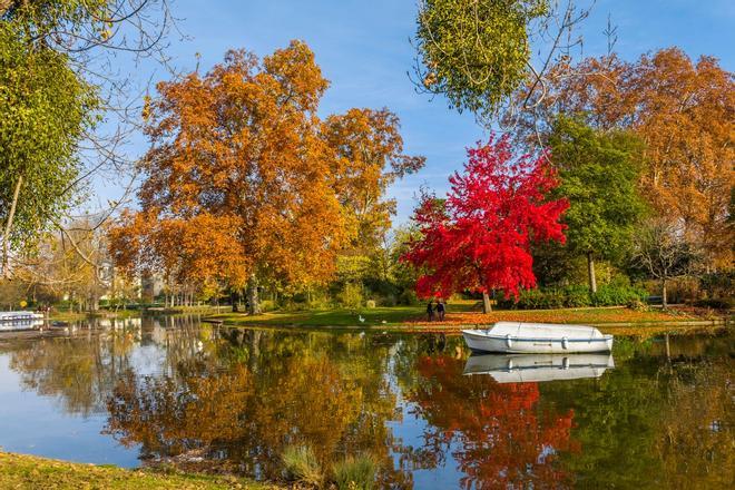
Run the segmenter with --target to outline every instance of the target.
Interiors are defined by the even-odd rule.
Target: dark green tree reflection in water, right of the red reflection
[[[624,343],[627,341],[624,341]],[[564,465],[586,488],[731,488],[735,480],[735,363],[728,342],[665,340],[594,384],[542,385],[546,403],[575,409],[580,454]],[[643,355],[645,352],[646,355]]]

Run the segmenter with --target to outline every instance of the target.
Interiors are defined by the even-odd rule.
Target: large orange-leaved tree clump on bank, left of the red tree
[[[331,278],[360,226],[390,224],[386,185],[423,159],[403,155],[388,110],[321,120],[327,87],[301,41],[263,60],[229,51],[206,75],[158,84],[144,112],[151,148],[140,161],[140,210],[111,232],[117,262],[177,281],[247,284],[251,313],[258,283]]]

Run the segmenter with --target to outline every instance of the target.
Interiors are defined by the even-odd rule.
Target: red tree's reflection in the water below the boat
[[[559,488],[571,484],[560,452],[579,451],[570,439],[574,412],[538,405],[538,383],[499,384],[489,375],[462,375],[464,361],[419,360],[410,399],[430,427],[421,463],[434,467],[451,454],[463,488]]]

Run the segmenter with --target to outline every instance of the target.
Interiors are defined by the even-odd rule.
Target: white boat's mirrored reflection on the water
[[[609,353],[471,355],[464,374],[490,374],[498,383],[527,383],[600,378],[615,367]]]

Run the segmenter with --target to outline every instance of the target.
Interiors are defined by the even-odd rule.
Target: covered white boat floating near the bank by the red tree
[[[498,322],[487,330],[463,330],[462,335],[476,352],[568,354],[612,350],[612,335],[602,335],[587,325]]]

